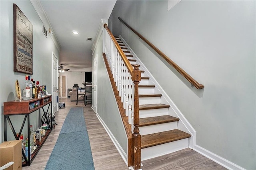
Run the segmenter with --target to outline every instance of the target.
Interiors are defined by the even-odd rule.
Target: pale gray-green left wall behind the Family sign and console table
[[[3,102],[14,100],[15,81],[18,79],[22,87],[25,82],[25,75],[13,71],[13,4],[17,4],[33,25],[33,75],[34,80],[47,86],[51,92],[52,81],[52,51],[59,58],[59,49],[56,47],[50,35],[48,38],[42,32],[42,21],[38,17],[34,7],[28,0],[0,0],[0,142],[4,141],[4,116]],[[37,112],[38,113],[38,112]],[[11,116],[10,119],[16,131],[19,130],[24,116]],[[37,127],[38,114],[30,114],[30,124]],[[25,123],[26,125],[26,123]],[[9,127],[9,125],[7,125]],[[26,128],[24,128],[26,129]],[[24,139],[26,139],[25,131]],[[8,140],[14,140],[10,128],[8,128]]]

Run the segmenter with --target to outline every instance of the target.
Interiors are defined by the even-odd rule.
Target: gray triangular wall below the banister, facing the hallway
[[[102,57],[102,35],[100,41],[98,41],[98,44],[96,45],[92,61],[94,61],[97,55],[97,113],[111,131],[116,141],[118,141],[120,147],[122,147],[127,154],[127,136]],[[94,75],[94,72],[92,75]]]

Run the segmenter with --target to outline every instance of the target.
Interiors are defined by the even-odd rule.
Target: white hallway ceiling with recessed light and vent
[[[60,43],[60,64],[70,71],[92,67],[92,45],[100,21],[108,20],[116,0],[40,0]],[[74,35],[72,31],[79,34]],[[92,41],[86,41],[92,38]]]

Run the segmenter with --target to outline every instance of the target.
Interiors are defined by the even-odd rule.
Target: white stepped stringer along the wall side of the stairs
[[[150,71],[146,68],[146,66],[140,61],[140,59],[138,58],[138,56],[134,53],[134,51],[130,48],[130,46],[128,45],[128,43],[126,43],[126,41],[123,39],[123,37],[121,35],[119,35],[119,38],[122,39],[122,42],[126,45],[126,47],[128,48],[128,51],[130,51],[130,53],[133,55],[133,57],[136,59],[136,62],[138,62],[138,64],[140,64],[140,70],[144,70],[147,74],[148,77],[150,77],[150,81],[152,81],[152,83],[155,85],[155,89],[154,92],[155,93],[160,93],[162,94],[162,98],[161,98],[161,103],[163,104],[168,104],[170,105],[170,108],[168,110],[168,115],[174,116],[174,117],[178,117],[179,123],[177,126],[177,129],[180,129],[181,131],[184,131],[186,133],[191,134],[190,139],[188,139],[189,143],[188,146],[190,147],[190,149],[194,148],[194,145],[196,144],[196,131],[195,129],[192,127],[192,125],[188,122],[188,120],[186,119],[186,117],[182,114],[182,112],[180,111],[180,109],[178,109],[178,107],[174,104],[174,102],[171,100],[171,98],[166,94],[166,92],[164,91],[164,89],[160,86],[160,84],[156,81],[156,79],[154,78],[154,76],[152,76],[152,74],[150,73]]]

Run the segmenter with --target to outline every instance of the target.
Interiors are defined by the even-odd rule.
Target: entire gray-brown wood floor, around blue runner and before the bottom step
[[[84,106],[84,102],[70,102],[68,98],[60,98],[59,102],[65,102],[66,107],[56,113],[56,126],[46,142],[34,158],[31,166],[22,167],[24,170],[44,170],[48,158],[58,139],[62,124],[71,107],[84,107],[84,118],[92,149],[92,157],[95,170],[128,170],[124,160],[112,143],[104,127],[96,117],[91,105]],[[72,150],[67,150],[72,152]],[[61,155],[60,155],[61,156]],[[143,170],[217,170],[226,169],[216,162],[202,156],[191,149],[184,149],[172,154],[160,156],[150,160],[142,161]]]

